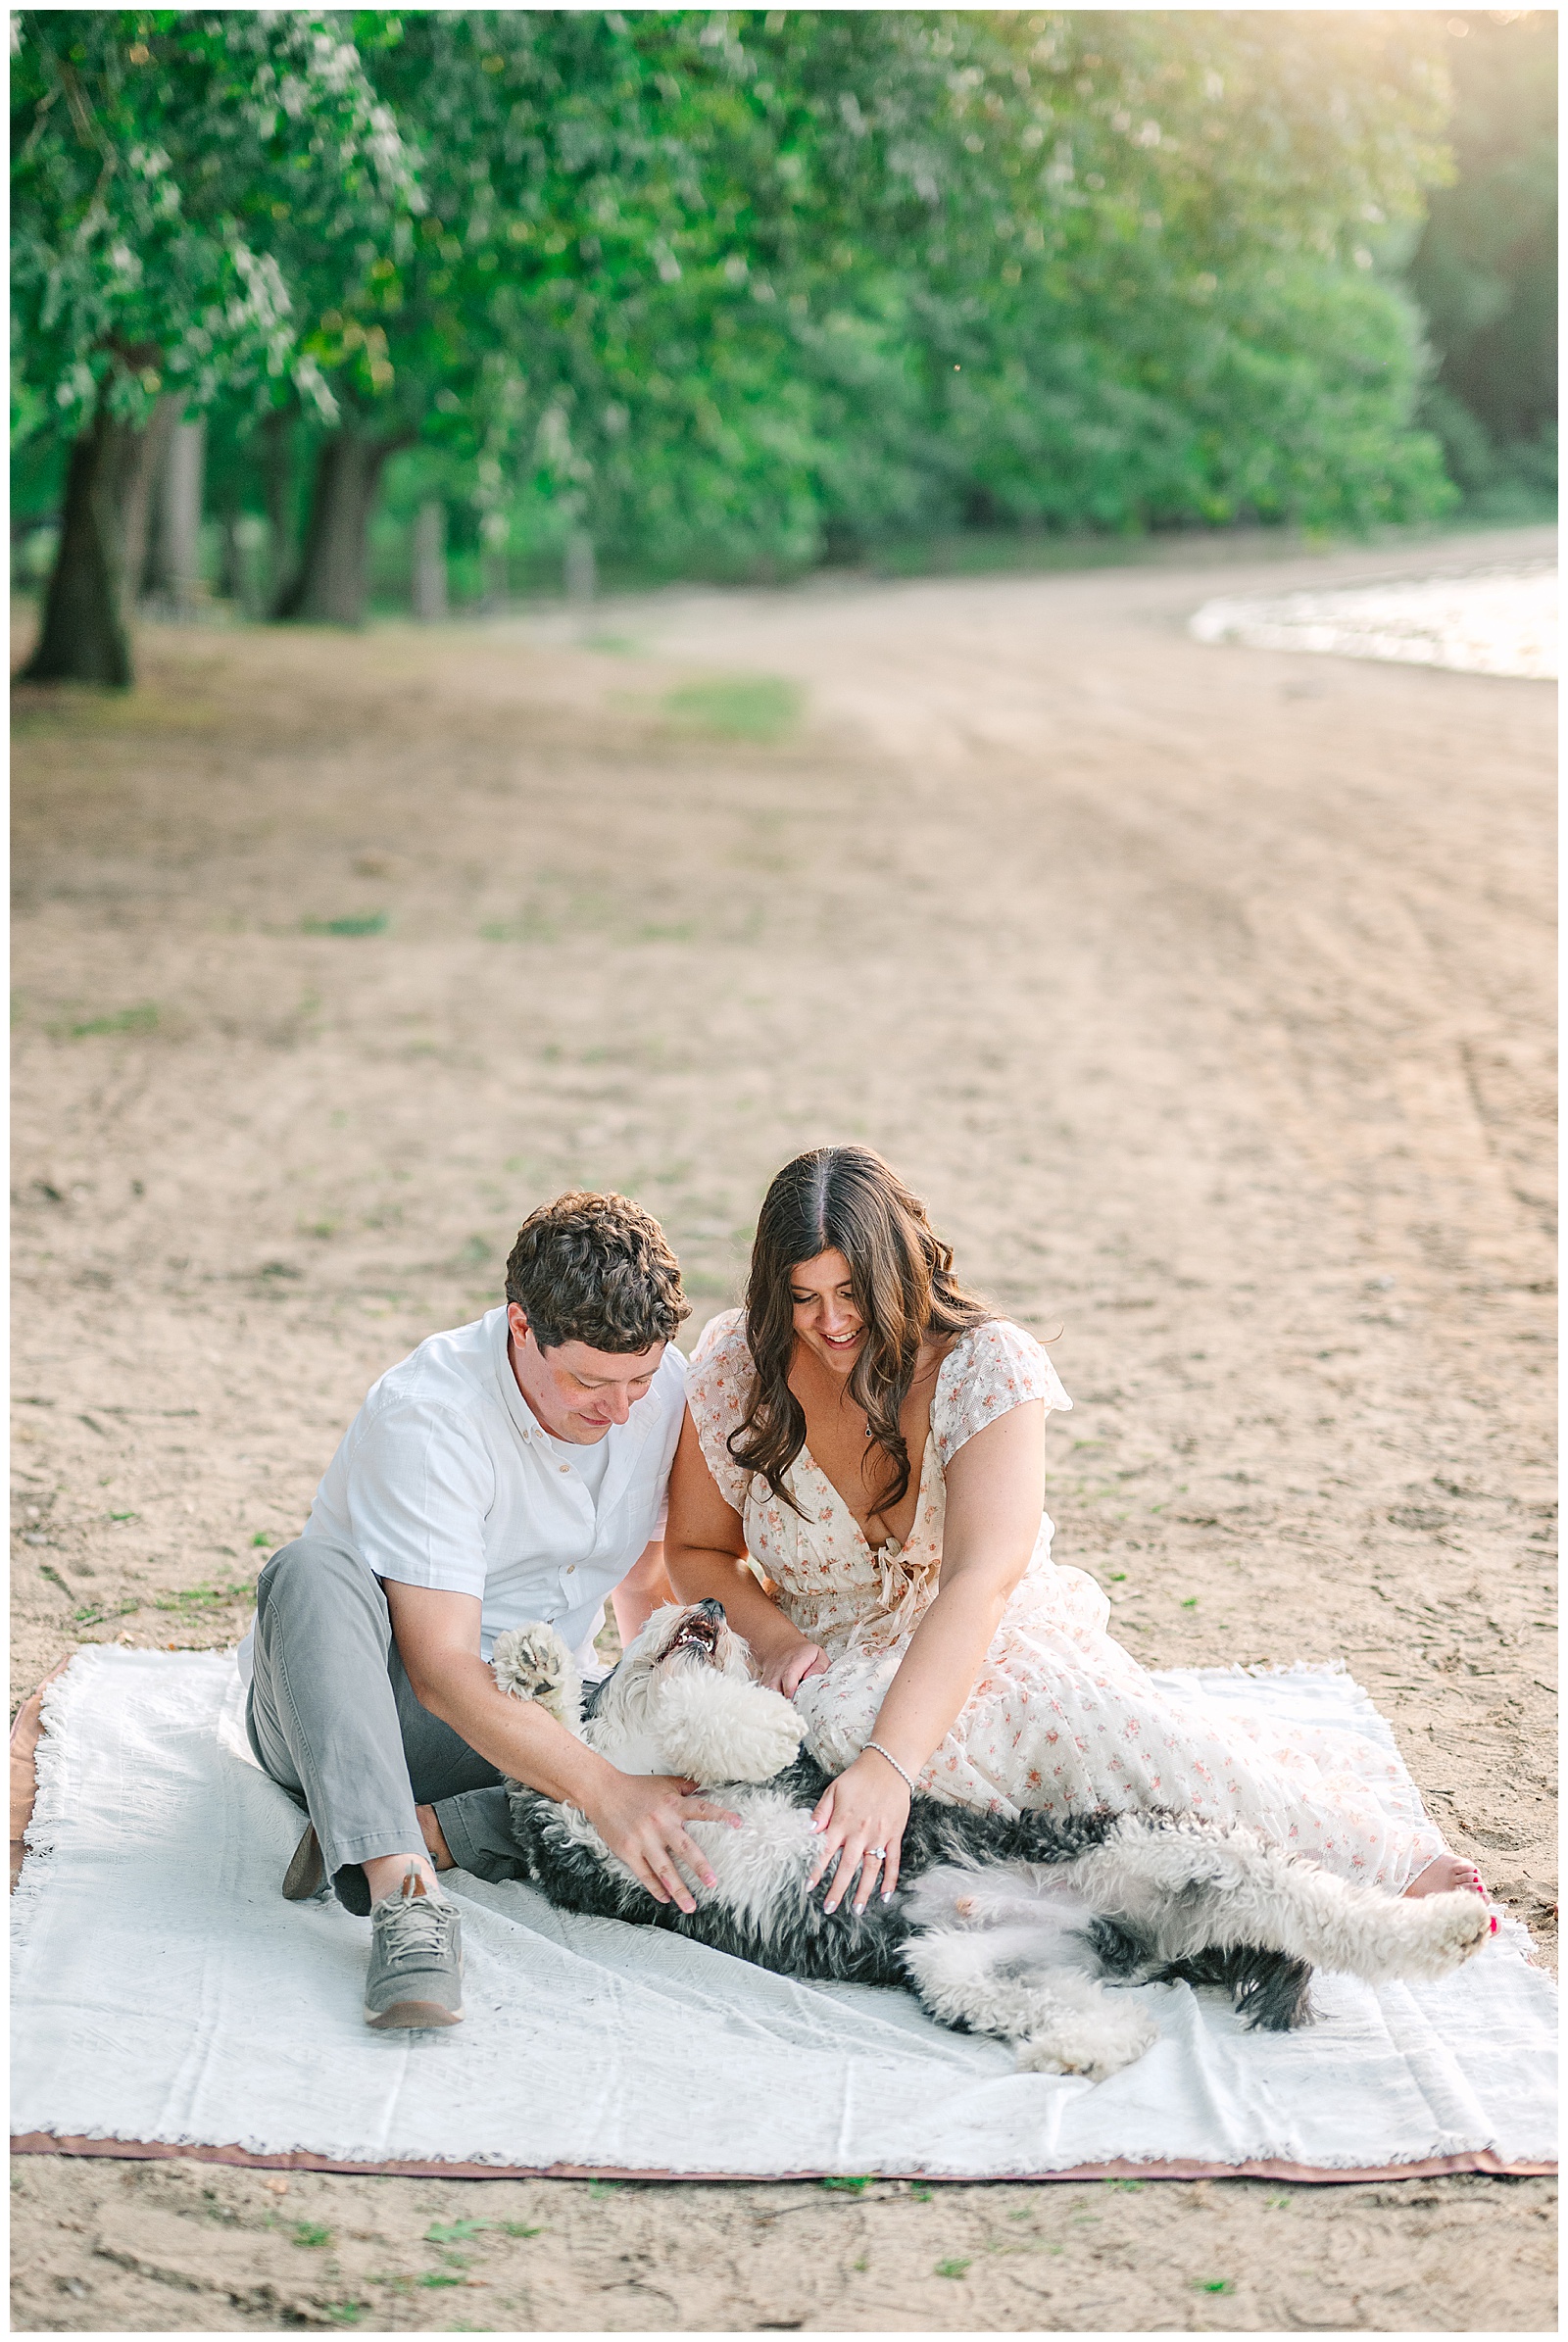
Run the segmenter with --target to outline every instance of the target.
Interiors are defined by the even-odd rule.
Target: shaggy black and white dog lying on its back
[[[900,1984],[959,2031],[1015,2042],[1020,2066],[1092,2080],[1158,2040],[1106,1979],[1223,1986],[1249,2026],[1310,2021],[1313,1967],[1380,1984],[1441,1977],[1488,1934],[1479,1895],[1402,1902],[1282,1853],[1242,1824],[1095,1813],[1017,1820],[916,1796],[898,1892],[832,1913],[806,1881],[811,1810],[830,1775],[802,1752],[804,1724],[752,1682],[717,1602],[661,1609],[586,1700],[560,1637],[513,1628],[495,1677],[541,1700],[623,1773],[682,1773],[741,1815],[694,1822],[717,1888],[659,1904],[591,1822],[509,1782],[530,1878],[553,1904],[673,1927],[788,1977]]]

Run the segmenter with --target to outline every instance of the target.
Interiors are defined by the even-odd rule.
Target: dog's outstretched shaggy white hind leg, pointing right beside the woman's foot
[[[1069,1876],[1095,1911],[1139,1934],[1160,1963],[1254,1944],[1383,1984],[1446,1977],[1491,1934],[1479,1895],[1406,1902],[1350,1885],[1249,1829],[1155,1815],[1123,1815]]]

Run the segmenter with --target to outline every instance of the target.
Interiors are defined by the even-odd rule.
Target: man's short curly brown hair
[[[506,1300],[539,1349],[586,1342],[633,1356],[673,1342],[691,1316],[659,1220],[623,1194],[581,1187],[530,1211],[506,1262]]]

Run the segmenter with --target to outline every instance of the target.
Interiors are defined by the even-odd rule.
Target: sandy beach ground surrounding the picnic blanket
[[[157,628],[127,700],[19,691],[12,1710],[237,1639],[534,1201],[649,1204],[689,1342],[855,1136],[1055,1337],[1057,1557],[1130,1649],[1343,1660],[1552,1958],[1554,689],[1186,632],[1399,562]],[[1556,2319],[1549,2180],[16,2159],[12,2239],[28,2333]]]

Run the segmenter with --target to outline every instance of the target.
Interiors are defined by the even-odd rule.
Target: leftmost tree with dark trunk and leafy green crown
[[[335,19],[45,12],[14,19],[12,300],[23,431],[70,438],[33,679],[131,682],[148,431],[227,386],[291,379],[330,412],[272,251],[279,213],[389,220],[415,194],[396,124]]]

